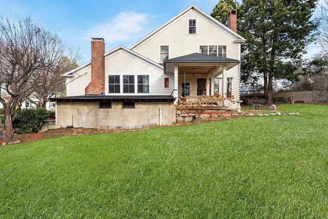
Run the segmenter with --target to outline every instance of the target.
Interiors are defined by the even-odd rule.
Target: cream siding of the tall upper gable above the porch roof
[[[188,34],[189,19],[196,19],[197,34]],[[234,38],[214,26],[195,11],[189,11],[165,28],[159,30],[133,51],[160,63],[160,46],[169,45],[169,58],[199,52],[201,45],[227,46],[227,57],[238,59],[238,45]]]

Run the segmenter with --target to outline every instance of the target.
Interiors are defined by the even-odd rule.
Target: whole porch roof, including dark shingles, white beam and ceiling
[[[233,58],[218,57],[204,53],[192,53],[165,60],[164,69],[165,73],[173,73],[174,66],[179,66],[179,73],[183,73],[184,71],[191,73],[191,70],[195,71],[195,73],[209,73],[211,70],[222,66],[226,66],[227,70],[229,70],[239,63],[239,60]]]

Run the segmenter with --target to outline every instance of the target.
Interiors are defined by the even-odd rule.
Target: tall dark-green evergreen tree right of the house
[[[317,0],[244,0],[240,34],[247,39],[242,49],[241,79],[264,81],[264,94],[273,103],[274,78],[295,79],[305,48],[314,41],[318,22],[312,19]]]

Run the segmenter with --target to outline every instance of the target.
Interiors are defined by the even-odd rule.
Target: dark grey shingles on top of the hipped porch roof
[[[189,55],[182,55],[176,58],[170,58],[166,63],[240,63],[237,59],[224,58],[204,53],[193,53]]]

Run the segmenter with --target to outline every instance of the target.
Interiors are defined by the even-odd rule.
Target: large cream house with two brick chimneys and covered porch
[[[91,62],[64,74],[57,126],[137,128],[176,120],[181,96],[239,96],[240,47],[232,10],[227,26],[190,6],[139,42],[105,53],[92,38]],[[233,104],[232,108],[237,108]]]

